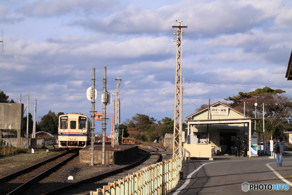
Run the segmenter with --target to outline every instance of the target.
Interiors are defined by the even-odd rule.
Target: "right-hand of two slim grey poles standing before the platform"
[[[107,67],[104,68],[103,74],[103,91],[102,91],[102,155],[101,163],[105,164],[105,130],[106,130],[106,109],[107,109]]]

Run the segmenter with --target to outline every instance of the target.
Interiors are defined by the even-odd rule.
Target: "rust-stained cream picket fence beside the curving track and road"
[[[91,191],[90,195],[166,194],[178,184],[180,170],[181,158],[175,157],[144,167],[97,191]]]

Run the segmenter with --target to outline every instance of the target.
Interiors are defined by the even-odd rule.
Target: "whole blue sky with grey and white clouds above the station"
[[[268,86],[292,95],[288,0],[0,0],[0,90],[17,103],[21,93],[24,106],[29,93],[37,120],[49,110],[90,116],[93,68],[101,113],[107,67],[108,92],[117,93],[121,79],[121,122],[137,113],[173,119],[176,20],[187,23],[183,120],[209,99],[230,103],[224,99],[238,92]]]

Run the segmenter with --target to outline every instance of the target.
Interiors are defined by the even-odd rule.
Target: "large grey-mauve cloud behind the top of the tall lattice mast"
[[[105,18],[77,17],[68,25],[110,34],[165,34],[172,31],[175,20],[183,20],[183,25],[188,24],[185,32],[195,37],[214,37],[272,25],[282,9],[280,1],[181,1],[152,10],[130,5]]]

